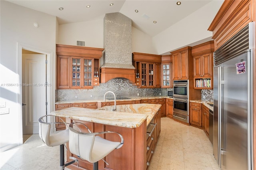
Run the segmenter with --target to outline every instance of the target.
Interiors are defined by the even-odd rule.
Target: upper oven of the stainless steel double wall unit
[[[173,97],[188,99],[188,80],[173,81]]]

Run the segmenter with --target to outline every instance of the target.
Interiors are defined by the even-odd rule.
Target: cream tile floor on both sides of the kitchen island
[[[203,130],[169,118],[161,121],[160,138],[148,170],[219,169],[212,144]],[[28,140],[23,145],[0,153],[0,170],[60,169],[59,147],[46,146],[38,134],[24,138]]]

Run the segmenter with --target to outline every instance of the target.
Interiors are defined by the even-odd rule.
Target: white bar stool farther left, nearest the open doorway
[[[54,124],[67,124],[59,117],[62,122],[51,122],[49,120],[56,120],[54,115],[45,115],[39,118],[39,136],[47,146],[60,146],[60,169],[64,170],[65,166],[78,162],[76,158],[70,157],[73,161],[64,163],[64,144],[69,140],[69,129],[51,132],[51,125]]]

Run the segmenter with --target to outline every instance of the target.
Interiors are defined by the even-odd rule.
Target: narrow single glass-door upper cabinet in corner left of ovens
[[[162,55],[161,86],[162,86],[162,88],[172,88],[173,87],[171,55]]]

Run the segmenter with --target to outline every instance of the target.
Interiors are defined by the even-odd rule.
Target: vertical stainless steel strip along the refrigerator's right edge
[[[248,124],[247,124],[247,129],[248,129],[248,169],[252,169],[252,165],[253,165],[253,160],[252,160],[252,155],[253,155],[253,129],[252,129],[252,125],[253,125],[253,115],[252,115],[252,108],[253,108],[253,103],[252,103],[252,87],[253,87],[253,65],[252,65],[252,51],[251,49],[248,49],[246,51],[247,53],[247,75],[248,75],[248,95],[247,95],[247,108],[248,108]]]

